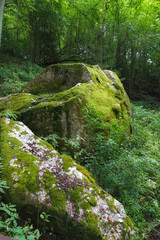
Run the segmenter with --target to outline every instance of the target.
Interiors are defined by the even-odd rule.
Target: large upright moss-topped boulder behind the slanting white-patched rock
[[[60,137],[86,136],[82,109],[93,106],[103,120],[118,119],[130,131],[130,102],[118,76],[86,64],[51,65],[23,92],[41,94],[20,120],[35,134]]]

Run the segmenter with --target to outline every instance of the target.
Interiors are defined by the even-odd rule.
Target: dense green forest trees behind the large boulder
[[[1,51],[41,65],[116,70],[131,95],[159,93],[158,0],[6,0]]]

